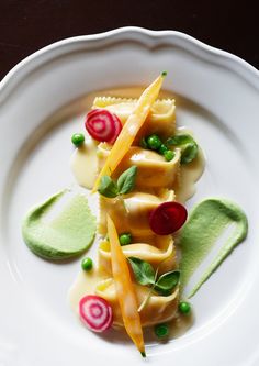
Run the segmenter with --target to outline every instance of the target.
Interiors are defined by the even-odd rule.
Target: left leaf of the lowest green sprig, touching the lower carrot
[[[138,284],[144,286],[155,284],[155,270],[149,263],[136,257],[128,257],[127,260]]]

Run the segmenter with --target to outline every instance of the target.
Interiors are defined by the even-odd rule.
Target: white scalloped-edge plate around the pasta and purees
[[[55,265],[21,239],[27,208],[70,185],[70,135],[88,92],[147,85],[168,71],[178,124],[204,148],[199,201],[225,196],[247,212],[249,236],[193,298],[195,323],[182,337],[147,346],[148,364],[258,365],[259,73],[225,52],[171,31],[136,27],[65,40],[20,63],[0,88],[0,365],[143,365],[128,342],[85,330],[67,302],[79,260]]]

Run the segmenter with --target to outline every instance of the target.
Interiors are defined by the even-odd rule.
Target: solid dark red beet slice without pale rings
[[[164,202],[149,214],[149,225],[158,235],[178,231],[187,221],[187,209],[179,202]]]

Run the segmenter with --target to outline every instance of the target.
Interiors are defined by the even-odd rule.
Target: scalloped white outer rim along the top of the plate
[[[55,57],[60,56],[63,49],[71,44],[93,44],[94,42],[101,42],[105,46],[108,43],[111,45],[111,43],[122,41],[122,38],[138,42],[140,41],[142,45],[146,47],[149,46],[150,48],[157,46],[166,38],[168,42],[170,40],[170,45],[176,44],[178,46],[182,46],[191,53],[199,52],[199,56],[202,59],[211,62],[213,59],[213,63],[222,64],[223,66],[229,68],[238,76],[245,78],[246,81],[259,91],[259,70],[239,56],[236,56],[227,51],[213,47],[183,32],[173,30],[154,31],[139,26],[123,26],[102,33],[67,37],[32,53],[11,68],[2,80],[0,80],[0,102],[4,101],[5,97],[8,97],[12,91],[16,84],[15,81],[24,79],[38,66],[37,63],[44,63],[44,57],[47,57],[47,60],[52,60]]]

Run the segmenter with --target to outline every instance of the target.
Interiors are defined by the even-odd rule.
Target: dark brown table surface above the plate
[[[256,8],[238,0],[0,0],[0,79],[55,41],[125,25],[181,31],[259,68]]]

